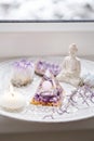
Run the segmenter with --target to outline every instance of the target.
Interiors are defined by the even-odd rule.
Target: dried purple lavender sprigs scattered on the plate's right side
[[[86,93],[90,93],[90,95],[86,95]],[[94,98],[94,92],[92,91],[91,87],[89,86],[82,86],[77,88],[75,91],[71,92],[71,94],[69,95],[68,102],[66,103],[65,106],[61,106],[56,112],[58,115],[63,115],[65,113],[69,114],[68,108],[69,106],[75,106],[76,108],[78,108],[78,106],[76,106],[77,102],[75,101],[75,97],[78,94],[78,97],[82,98],[82,103],[85,103],[88,106],[90,106],[89,104],[89,100],[94,103],[92,101],[92,98]],[[51,117],[54,118],[53,113],[51,115],[46,115],[44,116],[44,118],[46,117]]]

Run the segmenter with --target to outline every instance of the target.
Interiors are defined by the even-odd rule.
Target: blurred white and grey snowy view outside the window
[[[0,21],[93,21],[94,0],[0,0]]]

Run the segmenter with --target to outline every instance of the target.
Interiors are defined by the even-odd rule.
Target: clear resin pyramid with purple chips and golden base
[[[63,88],[48,69],[31,100],[35,105],[59,106],[62,105]]]

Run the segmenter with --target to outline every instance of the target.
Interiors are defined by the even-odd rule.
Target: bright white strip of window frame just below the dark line
[[[94,22],[0,23],[0,31],[94,31]]]

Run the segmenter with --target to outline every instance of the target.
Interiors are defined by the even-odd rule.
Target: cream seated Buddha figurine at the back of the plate
[[[75,43],[69,46],[69,56],[64,59],[62,65],[62,72],[58,74],[57,79],[59,81],[68,82],[73,86],[80,84],[80,72],[81,63],[80,60],[76,56],[78,48]]]

